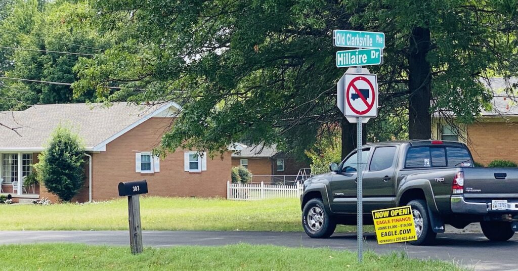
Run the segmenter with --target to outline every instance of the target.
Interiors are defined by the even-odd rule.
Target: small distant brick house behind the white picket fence
[[[276,146],[247,146],[239,144],[240,150],[232,153],[232,166],[243,166],[254,175],[253,182],[293,181],[300,169],[309,168],[310,161],[299,161],[293,156],[277,151]],[[307,170],[309,173],[309,169]]]

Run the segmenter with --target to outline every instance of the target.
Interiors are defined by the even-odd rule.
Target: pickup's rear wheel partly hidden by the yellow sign
[[[415,233],[418,236],[417,240],[409,242],[410,245],[421,246],[433,244],[437,233],[431,229],[430,216],[428,215],[428,207],[426,206],[426,202],[423,201],[423,199],[414,199],[407,205],[412,207]]]

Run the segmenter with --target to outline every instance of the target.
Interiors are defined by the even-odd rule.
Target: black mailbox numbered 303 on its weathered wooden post
[[[119,182],[119,196],[128,197],[130,246],[133,254],[142,252],[142,227],[140,225],[140,199],[138,195],[147,193],[148,182],[146,180]]]

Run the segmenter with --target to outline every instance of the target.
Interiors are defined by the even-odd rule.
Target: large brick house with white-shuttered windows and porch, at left
[[[180,109],[176,103],[160,105],[62,104],[35,105],[24,111],[0,112],[0,178],[2,192],[13,198],[55,201],[43,184],[23,189],[38,154],[45,149],[57,125],[71,127],[85,146],[85,180],[73,201],[104,201],[118,197],[121,181],[146,179],[156,196],[225,197],[231,179],[231,151],[213,159],[206,153],[178,149],[166,158],[152,150],[171,129]],[[22,178],[20,178],[20,176]],[[17,186],[13,187],[13,183]],[[203,188],[203,189],[200,189]],[[13,191],[15,190],[15,191]]]

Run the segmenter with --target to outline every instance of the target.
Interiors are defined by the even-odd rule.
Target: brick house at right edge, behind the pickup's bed
[[[474,161],[485,166],[494,160],[511,160],[518,163],[518,106],[516,97],[504,89],[513,89],[518,79],[509,81],[492,78],[486,87],[495,94],[492,109],[483,110],[472,124],[456,124],[435,116],[432,121],[432,138],[461,141],[467,144]],[[514,87],[515,88],[515,87]]]

